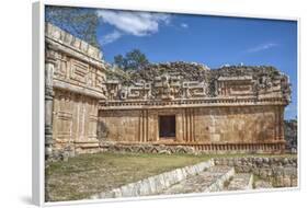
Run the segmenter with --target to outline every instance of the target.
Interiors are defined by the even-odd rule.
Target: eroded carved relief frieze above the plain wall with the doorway
[[[105,90],[106,89],[106,90]],[[168,72],[151,81],[141,80],[130,85],[109,81],[104,92],[112,100],[173,101],[207,97],[280,97],[289,102],[289,84],[282,74],[269,76],[219,76],[215,79],[190,81]]]

